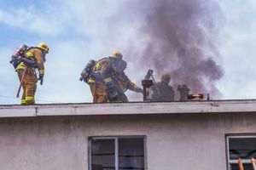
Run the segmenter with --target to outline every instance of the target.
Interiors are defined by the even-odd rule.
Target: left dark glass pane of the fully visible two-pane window
[[[114,139],[91,139],[91,170],[114,167]]]

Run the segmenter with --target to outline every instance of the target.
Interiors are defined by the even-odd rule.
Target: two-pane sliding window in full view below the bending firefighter
[[[90,137],[90,170],[144,170],[145,138]]]

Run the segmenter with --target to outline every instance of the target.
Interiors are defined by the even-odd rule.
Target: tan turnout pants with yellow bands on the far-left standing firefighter
[[[21,77],[24,74],[24,70],[18,70],[18,77],[21,81]],[[21,105],[33,105],[35,104],[35,93],[37,90],[37,82],[38,78],[35,75],[35,72],[28,68],[25,73],[25,77],[23,82],[21,82],[21,86],[23,88],[23,94],[21,98]]]

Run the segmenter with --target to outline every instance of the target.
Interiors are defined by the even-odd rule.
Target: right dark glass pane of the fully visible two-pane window
[[[119,139],[119,170],[144,169],[144,140]]]

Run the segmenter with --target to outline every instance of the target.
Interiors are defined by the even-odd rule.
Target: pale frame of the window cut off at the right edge
[[[230,144],[229,139],[244,139],[244,138],[256,138],[256,133],[227,133],[225,134],[225,144],[226,144],[226,159],[227,159],[227,169],[231,170],[230,165],[237,163],[237,160],[230,160]],[[243,159],[244,164],[251,164],[250,159]]]

